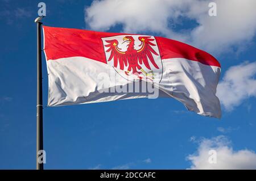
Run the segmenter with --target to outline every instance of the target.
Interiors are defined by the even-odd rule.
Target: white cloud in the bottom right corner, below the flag
[[[209,163],[209,150],[216,150],[216,163]],[[204,138],[196,153],[189,155],[187,159],[192,163],[189,169],[256,169],[254,151],[234,151],[230,141],[224,136]]]

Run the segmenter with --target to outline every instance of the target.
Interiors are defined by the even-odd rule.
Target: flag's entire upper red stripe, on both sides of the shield
[[[101,38],[117,35],[133,35],[47,26],[43,26],[43,29],[44,51],[46,52],[47,60],[79,56],[104,62],[105,64],[106,57]],[[220,67],[216,58],[203,50],[164,37],[155,37],[155,39],[158,43],[162,59],[186,58],[192,61],[199,61],[205,65]]]

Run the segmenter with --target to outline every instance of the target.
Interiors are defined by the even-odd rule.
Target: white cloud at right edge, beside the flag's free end
[[[250,96],[256,96],[256,62],[230,67],[217,87],[217,96],[225,110],[232,111]]]

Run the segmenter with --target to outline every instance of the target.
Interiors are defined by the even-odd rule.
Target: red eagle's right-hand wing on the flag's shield
[[[151,69],[150,65],[148,64],[149,59],[151,63],[155,66],[155,68],[159,69],[158,65],[156,65],[155,60],[152,56],[152,53],[154,53],[157,56],[159,55],[151,47],[156,46],[154,43],[151,42],[154,41],[154,39],[151,39],[151,36],[139,36],[139,40],[141,41],[141,48],[137,50],[139,64],[142,64],[143,62],[147,69]]]

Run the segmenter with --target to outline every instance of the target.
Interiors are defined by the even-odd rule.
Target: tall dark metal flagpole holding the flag
[[[44,165],[42,162],[43,152],[43,95],[42,95],[42,48],[41,48],[41,25],[40,20],[42,17],[36,18],[35,23],[37,26],[37,103],[36,103],[36,170],[43,170]],[[44,155],[43,155],[44,156]],[[40,158],[41,157],[41,158]]]

